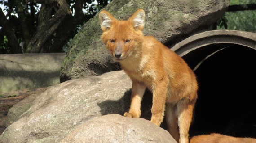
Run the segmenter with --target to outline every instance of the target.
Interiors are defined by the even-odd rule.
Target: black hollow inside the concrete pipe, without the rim
[[[214,48],[224,49],[194,71],[199,91],[190,136],[214,132],[256,138],[256,50],[235,44],[205,47]],[[202,49],[182,57],[192,69],[198,64],[194,58],[210,55]]]

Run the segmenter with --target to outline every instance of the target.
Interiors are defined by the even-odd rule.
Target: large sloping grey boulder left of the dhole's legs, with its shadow
[[[59,143],[72,130],[93,118],[124,114],[129,109],[131,88],[132,82],[124,71],[49,87],[10,109],[8,127],[0,136],[0,143]],[[146,101],[147,97],[144,99]],[[20,108],[23,104],[27,106]],[[150,112],[150,104],[145,105],[149,108],[142,108],[142,111]]]

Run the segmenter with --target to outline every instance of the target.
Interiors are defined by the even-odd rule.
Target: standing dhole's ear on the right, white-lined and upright
[[[142,30],[144,28],[145,21],[145,11],[143,9],[138,9],[132,16],[129,18],[129,21],[132,22],[133,28],[136,30]]]

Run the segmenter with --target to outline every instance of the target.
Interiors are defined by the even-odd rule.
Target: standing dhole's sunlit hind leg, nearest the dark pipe
[[[194,99],[182,99],[177,103],[178,126],[180,131],[179,143],[189,143],[189,129],[193,117]]]

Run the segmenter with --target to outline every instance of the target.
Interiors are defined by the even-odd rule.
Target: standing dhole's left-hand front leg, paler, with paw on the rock
[[[129,113],[125,112],[124,117],[140,118],[141,100],[146,90],[146,86],[140,82],[132,81],[131,106]]]

